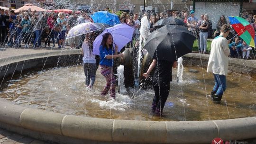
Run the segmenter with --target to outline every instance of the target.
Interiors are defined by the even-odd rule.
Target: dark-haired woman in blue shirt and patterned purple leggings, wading
[[[101,95],[108,94],[110,90],[111,98],[116,99],[116,77],[114,76],[112,66],[114,59],[122,57],[123,54],[118,54],[117,45],[115,45],[115,49],[113,49],[113,37],[110,33],[103,35],[100,46],[100,56],[101,74],[106,78],[107,81]]]

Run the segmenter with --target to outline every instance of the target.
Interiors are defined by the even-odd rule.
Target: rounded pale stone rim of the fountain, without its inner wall
[[[80,50],[31,54],[10,63],[48,56],[80,54]],[[195,56],[196,54],[193,54]],[[0,60],[0,65],[3,60]],[[5,64],[6,65],[6,64]],[[14,105],[0,98],[0,126],[5,124],[48,135],[124,143],[199,144],[256,138],[256,117],[209,121],[137,121],[65,115]],[[6,126],[5,126],[6,128]],[[7,126],[8,128],[8,126]]]

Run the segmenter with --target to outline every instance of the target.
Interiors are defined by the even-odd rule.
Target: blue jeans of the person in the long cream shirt
[[[213,91],[216,92],[216,95],[222,96],[224,91],[227,89],[226,76],[213,74],[215,85],[213,87]]]

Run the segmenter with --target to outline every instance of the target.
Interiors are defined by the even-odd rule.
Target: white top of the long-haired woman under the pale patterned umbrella
[[[82,43],[83,63],[96,63],[95,55],[90,52],[89,45],[87,42]]]

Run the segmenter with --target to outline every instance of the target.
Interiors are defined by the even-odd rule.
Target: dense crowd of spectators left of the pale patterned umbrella
[[[58,48],[64,48],[68,42],[65,43],[65,36],[72,27],[92,22],[84,11],[66,14],[22,10],[17,14],[14,10],[0,9],[0,12],[0,45],[5,48],[21,47],[21,44],[25,48],[40,48],[41,40],[45,42],[43,47],[55,47],[57,44]],[[76,48],[81,48],[82,42]],[[73,42],[71,47],[74,46]]]

